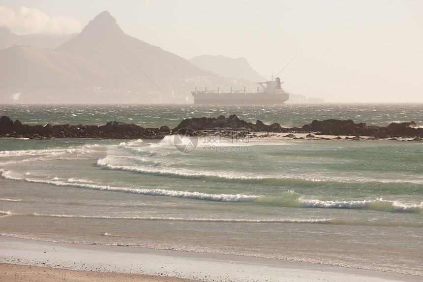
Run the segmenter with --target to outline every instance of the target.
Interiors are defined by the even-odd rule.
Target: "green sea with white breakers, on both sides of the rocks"
[[[232,114],[423,126],[423,104],[0,105],[30,125],[172,128]],[[422,142],[201,137],[181,152],[176,141],[0,139],[0,234],[423,276]]]

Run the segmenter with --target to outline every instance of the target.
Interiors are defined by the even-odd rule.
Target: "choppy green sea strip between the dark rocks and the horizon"
[[[284,127],[310,124],[313,120],[352,119],[356,123],[386,126],[392,122],[414,121],[423,126],[423,104],[287,104],[283,106],[201,106],[201,105],[52,105],[0,104],[0,116],[18,119],[24,124],[105,125],[110,121],[133,123],[144,127],[176,127],[182,119],[229,117]]]

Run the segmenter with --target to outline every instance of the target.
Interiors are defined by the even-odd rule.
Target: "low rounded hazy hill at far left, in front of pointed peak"
[[[110,74],[98,65],[62,52],[12,47],[0,51],[0,62],[0,87],[111,86]]]

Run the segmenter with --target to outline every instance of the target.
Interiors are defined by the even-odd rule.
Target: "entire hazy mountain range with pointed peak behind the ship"
[[[1,28],[1,48],[0,98],[21,92],[26,103],[186,103],[196,86],[254,91],[255,82],[266,80],[243,58],[188,61],[129,36],[107,11],[76,35],[15,35]]]

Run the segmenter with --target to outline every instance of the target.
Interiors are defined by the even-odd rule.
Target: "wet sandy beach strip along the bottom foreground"
[[[0,250],[0,273],[2,276],[8,275],[8,281],[48,281],[44,279],[46,277],[56,279],[51,281],[57,281],[58,277],[74,277],[77,281],[125,279],[147,282],[417,282],[422,279],[421,276],[408,274],[310,262],[139,247],[56,243],[9,236],[0,236]]]

